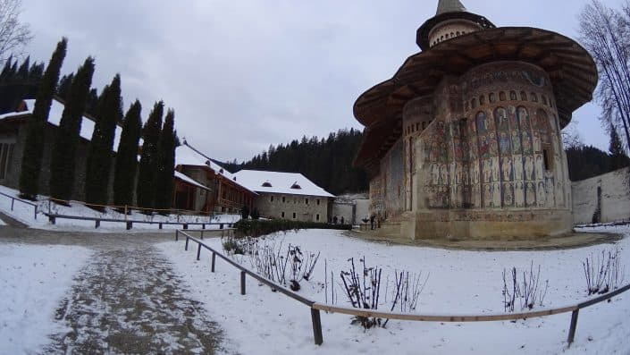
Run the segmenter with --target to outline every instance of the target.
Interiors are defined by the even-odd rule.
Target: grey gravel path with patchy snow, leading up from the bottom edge
[[[67,329],[42,353],[196,354],[224,351],[222,331],[153,244],[172,233],[86,233],[26,229],[4,218],[0,242],[72,244],[94,249],[56,309]]]

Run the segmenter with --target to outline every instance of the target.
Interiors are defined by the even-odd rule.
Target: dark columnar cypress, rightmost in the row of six
[[[158,143],[159,162],[155,173],[155,208],[172,207],[172,174],[175,170],[175,112],[170,109]]]

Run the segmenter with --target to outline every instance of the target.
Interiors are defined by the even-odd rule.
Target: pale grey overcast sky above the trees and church
[[[419,51],[416,29],[437,0],[23,0],[48,60],[69,39],[63,73],[96,57],[93,86],[122,76],[125,111],[139,98],[143,120],[156,100],[175,109],[181,138],[220,160],[248,159],[303,135],[363,128],[358,95]],[[497,26],[532,26],[577,38],[586,0],[463,0]],[[617,6],[621,0],[604,0]],[[587,105],[574,120],[584,143],[608,150]]]

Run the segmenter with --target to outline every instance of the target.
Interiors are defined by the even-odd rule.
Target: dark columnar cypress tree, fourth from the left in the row
[[[121,142],[118,145],[113,175],[113,204],[117,206],[131,205],[133,202],[133,188],[138,170],[138,143],[142,131],[141,111],[142,106],[136,100],[122,122]]]

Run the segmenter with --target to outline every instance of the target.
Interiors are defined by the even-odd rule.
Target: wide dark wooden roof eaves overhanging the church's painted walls
[[[532,63],[549,74],[563,128],[577,108],[592,100],[597,86],[598,72],[592,56],[573,39],[556,32],[501,27],[449,39],[411,55],[393,78],[357,98],[354,115],[366,129],[355,164],[365,165],[379,156],[387,143],[378,139],[400,137],[397,125],[388,122],[402,117],[409,100],[433,94],[446,75],[461,76],[478,65],[498,61]]]

